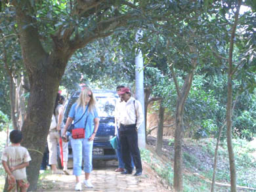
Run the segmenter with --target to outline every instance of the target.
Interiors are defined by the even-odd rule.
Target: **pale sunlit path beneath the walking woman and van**
[[[82,191],[169,191],[160,183],[160,178],[143,163],[142,176],[122,175],[114,172],[116,161],[94,163],[95,168],[91,174],[91,181],[95,186],[87,189],[82,185]],[[69,170],[72,174],[72,170]],[[37,191],[75,191],[75,177],[73,175],[52,175],[43,177]]]

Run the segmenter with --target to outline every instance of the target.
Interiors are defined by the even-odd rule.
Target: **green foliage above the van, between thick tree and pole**
[[[127,44],[127,47],[132,45]],[[114,36],[89,43],[70,58],[61,85],[76,90],[80,83],[87,83],[93,88],[115,90],[119,84],[133,84],[134,64],[125,63],[132,53],[123,52],[121,48]]]

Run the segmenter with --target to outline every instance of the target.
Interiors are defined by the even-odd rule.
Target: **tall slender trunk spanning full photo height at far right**
[[[234,160],[234,151],[232,147],[232,58],[234,49],[234,37],[236,34],[236,26],[238,24],[239,10],[241,7],[242,0],[238,1],[236,8],[234,26],[232,27],[230,37],[230,47],[228,56],[228,94],[226,104],[226,140],[228,145],[228,157],[229,157],[229,168],[230,168],[230,185],[231,191],[236,192],[236,164]]]

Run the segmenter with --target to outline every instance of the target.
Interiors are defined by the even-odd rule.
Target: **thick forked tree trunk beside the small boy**
[[[31,16],[30,1],[12,1],[16,8],[16,22],[22,58],[30,83],[30,97],[26,117],[22,125],[22,145],[32,157],[27,167],[29,191],[36,191],[39,168],[47,142],[47,134],[53,114],[53,105],[58,86],[68,59],[75,48],[69,44],[68,36],[52,35],[51,53],[45,52],[36,28],[35,16]],[[34,25],[28,25],[34,24]],[[66,30],[68,31],[68,30]]]

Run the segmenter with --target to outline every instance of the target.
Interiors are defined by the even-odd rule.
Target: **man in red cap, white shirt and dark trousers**
[[[144,121],[142,106],[138,100],[135,100],[135,98],[131,96],[131,90],[129,88],[123,87],[117,93],[124,102],[120,106],[119,117],[119,137],[121,151],[123,153],[123,162],[125,163],[125,171],[121,172],[121,174],[132,174],[132,156],[136,167],[134,176],[140,176],[142,174],[142,164],[137,130]]]

